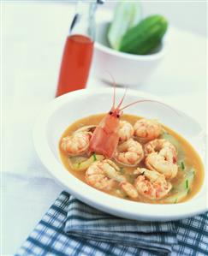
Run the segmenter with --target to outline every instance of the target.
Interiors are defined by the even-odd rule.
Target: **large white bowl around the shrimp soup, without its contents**
[[[121,98],[123,90],[116,90],[116,95]],[[142,92],[128,91],[125,104],[140,98],[154,98]],[[205,182],[200,192],[187,202],[175,205],[151,205],[110,196],[98,191],[68,173],[59,158],[58,143],[63,131],[74,121],[92,114],[110,110],[112,104],[112,89],[80,90],[70,92],[54,99],[43,110],[33,130],[33,140],[39,158],[51,172],[62,187],[88,205],[113,215],[136,220],[166,221],[193,216],[206,211]],[[163,124],[173,128],[187,140],[193,142],[196,150],[203,158],[203,141],[201,128],[191,117],[181,111],[178,113],[162,104],[146,102],[131,106],[126,113],[157,118]]]

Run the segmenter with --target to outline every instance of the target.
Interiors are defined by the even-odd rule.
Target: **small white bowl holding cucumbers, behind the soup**
[[[106,33],[110,23],[100,22],[97,26],[96,43],[93,56],[93,72],[99,79],[112,83],[106,71],[113,74],[117,85],[140,86],[150,78],[154,69],[163,59],[166,43],[151,55],[134,55],[115,51],[108,45]]]

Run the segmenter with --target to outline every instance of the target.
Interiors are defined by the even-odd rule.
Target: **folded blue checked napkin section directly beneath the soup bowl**
[[[169,253],[176,244],[173,223],[135,222],[98,211],[70,197],[65,232],[89,240]]]

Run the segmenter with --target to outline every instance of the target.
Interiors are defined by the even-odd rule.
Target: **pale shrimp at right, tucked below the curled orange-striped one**
[[[151,153],[146,157],[146,167],[150,170],[157,170],[163,174],[165,178],[172,179],[177,175],[178,166],[157,152]]]

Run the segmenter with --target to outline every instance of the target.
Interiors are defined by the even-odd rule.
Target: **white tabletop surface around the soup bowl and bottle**
[[[13,254],[62,188],[37,157],[35,117],[54,98],[73,8],[3,3],[3,254]],[[98,11],[98,19],[108,12]],[[169,100],[205,127],[206,39],[169,29],[169,53],[137,89]],[[106,86],[92,75],[88,87]]]

